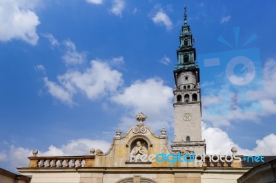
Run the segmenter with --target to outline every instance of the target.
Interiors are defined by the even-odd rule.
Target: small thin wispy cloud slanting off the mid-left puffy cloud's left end
[[[43,78],[46,87],[48,88],[48,92],[58,100],[61,100],[63,103],[68,105],[73,105],[72,101],[72,92],[66,91],[63,87],[57,85],[56,83],[48,80],[47,77]]]

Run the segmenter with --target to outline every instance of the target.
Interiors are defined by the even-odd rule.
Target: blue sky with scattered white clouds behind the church
[[[140,111],[173,140],[185,6],[207,153],[276,155],[276,1],[0,0],[0,167],[107,151]]]

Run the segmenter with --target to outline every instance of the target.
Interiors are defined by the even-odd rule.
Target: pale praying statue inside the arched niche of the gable
[[[133,144],[134,146],[135,144]],[[143,142],[141,140],[136,141],[136,146],[132,147],[132,150],[130,151],[130,160],[132,162],[141,162],[141,155],[146,154],[148,155],[148,145],[146,142]]]

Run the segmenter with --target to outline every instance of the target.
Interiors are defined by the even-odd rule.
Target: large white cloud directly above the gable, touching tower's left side
[[[118,125],[121,129],[126,130],[134,125],[135,118],[130,116],[143,111],[149,116],[146,125],[156,131],[162,127],[172,127],[172,98],[172,89],[164,85],[163,80],[150,78],[144,82],[137,80],[111,99],[127,109],[126,116],[121,118],[122,122]]]

